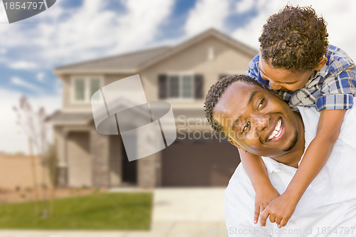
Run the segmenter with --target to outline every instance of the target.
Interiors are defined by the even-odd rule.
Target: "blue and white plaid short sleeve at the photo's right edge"
[[[345,66],[345,65],[344,65]],[[315,102],[320,110],[345,110],[352,108],[353,97],[356,96],[356,68],[355,64],[348,64],[342,68],[338,62],[337,70],[328,75],[321,88],[322,96]]]

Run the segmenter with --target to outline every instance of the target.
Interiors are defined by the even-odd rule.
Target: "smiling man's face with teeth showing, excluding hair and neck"
[[[214,120],[246,151],[265,157],[288,153],[298,141],[298,125],[290,107],[258,85],[229,85],[214,107]]]

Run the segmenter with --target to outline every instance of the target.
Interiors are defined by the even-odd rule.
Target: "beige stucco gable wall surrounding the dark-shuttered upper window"
[[[213,48],[214,58],[209,60],[209,48]],[[220,39],[211,36],[198,41],[166,60],[142,70],[141,79],[144,81],[148,100],[158,100],[158,75],[160,73],[201,73],[204,75],[204,95],[213,83],[219,80],[221,74],[245,73],[251,55],[241,52]],[[175,106],[202,106],[201,100],[169,100]]]

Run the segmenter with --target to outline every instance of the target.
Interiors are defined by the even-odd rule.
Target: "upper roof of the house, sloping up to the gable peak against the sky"
[[[244,43],[236,41],[234,38],[211,28],[174,47],[162,46],[107,58],[63,65],[55,68],[54,73],[57,75],[62,73],[139,73],[140,70],[155,65],[173,56],[175,53],[179,53],[179,51],[184,50],[184,48],[192,46],[192,44],[198,43],[211,36],[219,38],[221,41],[228,43],[230,46],[239,49],[239,51],[251,57],[258,53],[256,49],[246,46]]]

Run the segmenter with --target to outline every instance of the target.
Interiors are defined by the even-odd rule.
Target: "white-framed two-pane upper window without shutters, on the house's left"
[[[103,86],[103,79],[98,77],[72,78],[73,101],[90,102],[92,95]]]

